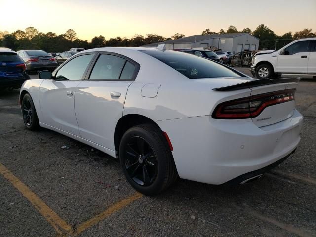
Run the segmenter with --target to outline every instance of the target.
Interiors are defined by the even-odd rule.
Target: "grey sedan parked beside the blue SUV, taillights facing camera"
[[[26,71],[55,70],[55,58],[43,50],[20,50],[17,54],[24,60]]]

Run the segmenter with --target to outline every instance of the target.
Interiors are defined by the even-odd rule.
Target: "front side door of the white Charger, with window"
[[[64,132],[80,136],[75,115],[76,86],[84,79],[94,53],[78,55],[40,86],[42,122]]]

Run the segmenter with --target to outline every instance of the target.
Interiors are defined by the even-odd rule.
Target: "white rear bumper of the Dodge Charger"
[[[261,128],[251,119],[210,116],[157,121],[170,138],[179,176],[209,184],[226,183],[288,156],[300,142],[302,123],[297,110]]]

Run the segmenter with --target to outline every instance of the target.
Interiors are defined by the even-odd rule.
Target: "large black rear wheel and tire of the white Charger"
[[[119,160],[128,182],[145,195],[162,192],[178,177],[167,141],[152,124],[134,126],[125,132]]]

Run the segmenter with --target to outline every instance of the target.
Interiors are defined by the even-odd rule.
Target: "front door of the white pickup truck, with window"
[[[307,73],[310,40],[295,42],[279,52],[277,70],[280,73]]]

